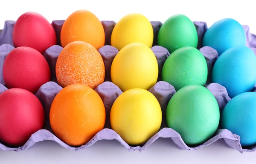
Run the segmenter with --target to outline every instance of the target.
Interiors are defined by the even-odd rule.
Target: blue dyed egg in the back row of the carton
[[[207,29],[203,38],[203,46],[215,49],[220,56],[234,46],[245,46],[246,35],[239,22],[231,18],[218,20]]]

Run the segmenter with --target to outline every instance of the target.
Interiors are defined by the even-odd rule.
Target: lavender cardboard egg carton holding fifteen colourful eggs
[[[104,83],[100,84],[95,91],[100,95],[102,98],[102,101],[104,102],[105,109],[106,109],[106,123],[104,129],[102,129],[100,132],[98,132],[87,144],[82,145],[81,147],[71,147],[67,144],[65,144],[63,141],[58,139],[54,133],[52,132],[50,123],[49,123],[49,110],[50,106],[52,104],[53,99],[58,94],[58,92],[62,89],[61,86],[58,85],[58,82],[56,80],[55,75],[55,65],[58,58],[58,55],[60,54],[61,50],[63,49],[60,46],[60,32],[61,27],[64,23],[64,20],[54,20],[52,21],[52,26],[55,29],[57,38],[58,38],[58,45],[54,45],[49,47],[44,52],[44,58],[46,58],[50,69],[52,73],[52,79],[50,82],[45,83],[40,87],[38,92],[35,94],[36,97],[41,101],[45,115],[46,115],[46,122],[44,129],[38,130],[35,132],[29,140],[24,144],[22,147],[9,147],[8,145],[5,145],[0,142],[0,150],[3,151],[23,151],[30,149],[35,143],[39,141],[44,140],[51,140],[55,141],[59,145],[61,145],[64,148],[70,149],[70,150],[82,150],[86,147],[89,147],[93,145],[95,142],[99,140],[117,140],[119,141],[126,149],[129,151],[143,151],[146,147],[148,147],[150,144],[152,144],[154,141],[156,141],[158,138],[170,138],[174,141],[174,143],[177,145],[179,149],[182,150],[197,150],[201,147],[207,146],[209,144],[214,143],[218,139],[223,138],[225,143],[235,149],[239,152],[253,152],[256,150],[256,146],[253,147],[241,147],[240,144],[240,137],[239,135],[233,134],[227,129],[220,129],[218,128],[215,134],[210,138],[208,141],[204,142],[201,145],[198,145],[196,147],[189,147],[184,143],[180,135],[175,132],[175,130],[166,127],[165,122],[165,114],[166,114],[166,107],[167,104],[172,98],[172,96],[176,93],[174,87],[170,85],[167,82],[161,81],[161,70],[163,67],[163,63],[165,62],[166,58],[170,55],[167,49],[157,46],[157,34],[158,31],[162,25],[159,21],[152,21],[152,27],[154,29],[154,43],[151,50],[154,52],[154,55],[157,58],[158,67],[159,67],[159,78],[157,80],[157,83],[149,89],[149,91],[157,98],[157,100],[160,103],[162,112],[163,112],[163,122],[161,125],[161,128],[157,134],[155,134],[153,137],[151,137],[144,145],[140,145],[137,147],[130,146],[127,144],[122,138],[111,129],[110,121],[109,121],[109,115],[111,106],[113,105],[113,102],[116,100],[116,98],[122,94],[121,89],[118,88],[115,84],[111,82],[111,76],[110,76],[110,69],[111,69],[111,63],[113,61],[113,58],[118,53],[118,50],[112,46],[110,46],[110,38],[111,33],[113,31],[113,27],[116,25],[114,21],[102,21],[102,25],[105,29],[105,46],[99,49],[99,53],[101,54],[104,63],[105,63],[105,81]],[[13,26],[15,24],[15,21],[6,21],[5,26],[3,30],[0,30],[0,93],[7,90],[5,83],[3,81],[3,62],[6,58],[6,55],[14,49],[13,42],[12,42],[12,31]],[[215,49],[212,49],[211,47],[205,46],[202,47],[202,39],[204,37],[204,33],[208,29],[207,23],[205,22],[194,22],[195,27],[198,32],[198,49],[201,51],[201,53],[204,55],[207,61],[208,66],[208,79],[206,88],[209,89],[209,91],[212,92],[212,94],[215,96],[218,106],[221,110],[224,108],[224,106],[227,104],[228,101],[230,101],[230,97],[227,94],[227,90],[224,88],[224,86],[221,86],[218,83],[211,83],[211,70],[212,66],[214,65],[215,61],[218,58],[218,53]],[[256,53],[256,35],[253,35],[250,33],[249,26],[243,25],[244,31],[246,32],[247,36],[247,42],[246,46],[250,47],[254,53]],[[256,92],[256,87],[253,89],[253,92]]]

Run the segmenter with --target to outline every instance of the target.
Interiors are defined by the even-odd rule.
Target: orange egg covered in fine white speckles
[[[56,78],[62,87],[79,83],[95,89],[104,82],[103,59],[97,49],[84,41],[69,43],[58,56]]]

